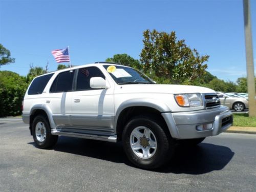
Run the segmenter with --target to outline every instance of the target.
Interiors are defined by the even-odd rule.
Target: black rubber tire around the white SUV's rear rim
[[[36,136],[36,125],[37,124],[41,124],[41,125],[45,126],[46,134],[45,134],[43,141],[39,141],[37,139],[37,136]],[[37,129],[39,131],[39,128],[37,128]],[[43,115],[38,115],[34,118],[33,123],[32,123],[32,135],[33,135],[33,139],[35,141],[35,146],[38,148],[51,148],[58,141],[58,136],[51,134],[51,128],[50,128],[48,118]]]

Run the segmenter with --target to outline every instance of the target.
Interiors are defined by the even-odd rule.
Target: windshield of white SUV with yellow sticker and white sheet
[[[129,67],[104,65],[117,84],[155,84],[143,73]]]

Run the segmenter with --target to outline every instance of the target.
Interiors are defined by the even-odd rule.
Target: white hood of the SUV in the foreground
[[[184,86],[180,84],[123,84],[120,85],[122,93],[215,93],[214,90],[199,86]]]

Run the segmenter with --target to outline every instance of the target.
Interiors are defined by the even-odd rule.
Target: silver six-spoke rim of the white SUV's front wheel
[[[157,151],[156,136],[147,127],[138,126],[131,133],[130,146],[136,156],[150,159]]]

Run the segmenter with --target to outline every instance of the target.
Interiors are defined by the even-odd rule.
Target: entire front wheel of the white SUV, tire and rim
[[[165,127],[146,116],[130,120],[124,128],[122,140],[129,160],[145,169],[160,167],[174,152],[175,143]]]

